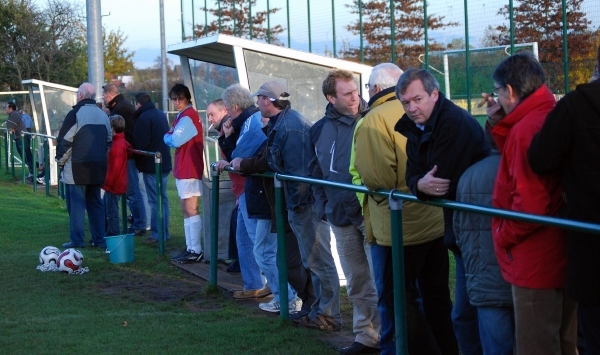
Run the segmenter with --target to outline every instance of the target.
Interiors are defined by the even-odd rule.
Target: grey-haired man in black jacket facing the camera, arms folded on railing
[[[469,166],[490,155],[483,128],[467,111],[444,97],[439,83],[426,70],[405,71],[396,85],[396,96],[406,112],[394,128],[408,139],[408,188],[421,200],[456,199],[456,186],[461,175]],[[449,322],[450,307],[439,309],[436,316],[440,322],[434,322],[438,328],[432,330],[442,354],[458,353],[456,340],[451,339],[453,326],[463,354],[471,354],[481,348],[477,310],[467,297],[452,214],[451,209],[444,209],[444,244],[454,253],[457,264],[456,299],[452,310],[454,324]],[[440,283],[440,293],[447,292],[447,285],[447,282],[445,285]]]

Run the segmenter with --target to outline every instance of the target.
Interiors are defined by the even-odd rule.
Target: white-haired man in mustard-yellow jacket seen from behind
[[[394,131],[396,122],[404,114],[394,92],[400,75],[402,70],[396,65],[383,63],[373,68],[369,78],[371,111],[359,122],[354,136],[354,174],[359,175],[355,182],[360,183],[362,179],[369,190],[410,192],[405,181],[406,138]],[[362,203],[381,318],[381,354],[395,354],[389,202],[387,197],[367,195]],[[450,319],[452,303],[448,289],[448,253],[442,238],[442,210],[404,202],[402,223],[408,350],[411,354],[451,353],[457,347]]]

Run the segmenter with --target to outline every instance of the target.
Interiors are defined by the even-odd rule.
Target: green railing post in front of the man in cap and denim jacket
[[[277,269],[279,270],[279,305],[281,307],[279,317],[288,320],[290,318],[287,289],[287,258],[285,255],[285,221],[283,214],[283,183],[277,178],[277,174],[273,177],[275,183],[275,216],[277,224]]]

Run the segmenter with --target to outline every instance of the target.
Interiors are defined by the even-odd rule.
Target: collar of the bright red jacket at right
[[[521,121],[528,113],[544,108],[550,110],[554,107],[555,103],[556,100],[550,89],[545,84],[540,86],[531,95],[521,100],[511,113],[498,121],[494,128],[492,128],[494,137],[507,137],[514,125]],[[497,139],[496,144],[498,144]],[[502,149],[500,145],[498,145],[498,148]]]

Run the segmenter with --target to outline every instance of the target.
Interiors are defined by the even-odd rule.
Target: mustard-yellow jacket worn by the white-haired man
[[[365,186],[371,190],[397,189],[410,193],[406,186],[406,137],[394,131],[404,114],[395,96],[395,87],[371,98],[371,110],[357,124],[354,135],[354,166]],[[392,246],[390,204],[387,197],[364,197],[363,214],[369,243]],[[404,201],[402,212],[404,245],[418,245],[444,235],[444,219],[438,207]]]

